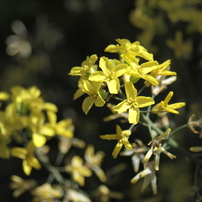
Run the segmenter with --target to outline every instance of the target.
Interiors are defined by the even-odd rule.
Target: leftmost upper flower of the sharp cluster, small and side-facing
[[[82,62],[81,67],[73,67],[69,73],[71,76],[80,76],[82,79],[87,79],[91,73],[97,71],[97,55],[88,56],[85,61]]]

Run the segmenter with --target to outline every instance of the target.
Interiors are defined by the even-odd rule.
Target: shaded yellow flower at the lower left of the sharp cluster
[[[104,99],[101,96],[101,93],[104,91],[101,89],[102,82],[89,82],[87,80],[83,80],[83,92],[88,94],[89,96],[86,97],[82,104],[82,109],[85,114],[89,112],[93,104],[96,107],[102,107],[105,104]],[[102,91],[103,90],[103,91]]]

